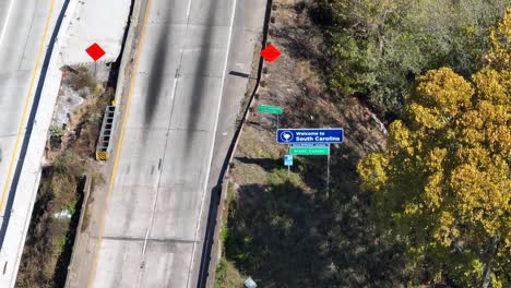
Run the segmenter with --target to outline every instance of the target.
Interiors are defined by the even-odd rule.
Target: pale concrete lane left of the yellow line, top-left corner
[[[0,0],[0,226],[9,213],[5,203],[40,72],[51,4],[52,0]]]

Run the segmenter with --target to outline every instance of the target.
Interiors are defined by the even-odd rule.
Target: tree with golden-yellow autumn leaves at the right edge
[[[358,164],[383,228],[430,283],[511,287],[511,9],[491,33],[489,64],[418,79],[385,153]]]

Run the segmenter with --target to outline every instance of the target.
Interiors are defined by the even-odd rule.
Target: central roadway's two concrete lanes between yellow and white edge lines
[[[84,287],[197,286],[193,254],[202,250],[235,7],[150,0],[114,189]]]

